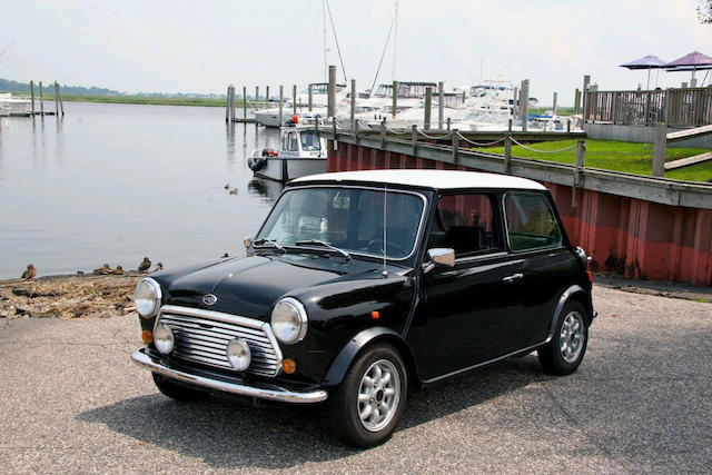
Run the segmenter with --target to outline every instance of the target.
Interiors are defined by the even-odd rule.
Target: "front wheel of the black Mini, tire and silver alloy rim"
[[[387,441],[408,394],[405,365],[389,345],[374,346],[352,365],[329,403],[332,429],[356,447]]]

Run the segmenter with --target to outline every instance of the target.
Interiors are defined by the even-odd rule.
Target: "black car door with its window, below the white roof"
[[[516,348],[524,259],[506,251],[495,194],[441,196],[427,248],[453,248],[455,266],[422,279],[427,326],[426,379],[457,372]]]

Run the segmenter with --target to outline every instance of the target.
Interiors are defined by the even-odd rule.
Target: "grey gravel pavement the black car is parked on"
[[[712,305],[595,288],[583,365],[534,355],[415,394],[354,451],[318,410],[175,403],[134,315],[0,319],[0,472],[699,472],[712,464]]]

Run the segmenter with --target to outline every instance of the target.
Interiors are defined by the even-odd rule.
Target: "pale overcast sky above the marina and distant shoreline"
[[[370,87],[393,0],[330,0],[348,78]],[[619,68],[653,53],[712,56],[712,27],[695,0],[400,0],[395,79],[467,86],[528,78],[532,96],[572,105],[590,73],[601,89],[645,87]],[[224,92],[324,79],[322,0],[2,2],[0,77],[119,91]],[[328,62],[338,65],[328,24]],[[393,40],[393,38],[392,38]],[[339,79],[343,75],[339,68]],[[378,77],[394,79],[393,44]],[[701,75],[704,76],[704,75]],[[654,86],[655,73],[652,75]],[[660,73],[679,86],[689,73]],[[240,90],[238,89],[238,93]]]

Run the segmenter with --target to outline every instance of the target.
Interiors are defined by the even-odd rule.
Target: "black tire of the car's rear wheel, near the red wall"
[[[570,331],[571,326],[567,325],[564,329],[564,324],[567,319],[573,318],[577,323],[578,327],[575,327],[575,331]],[[589,318],[586,309],[577,300],[568,300],[562,309],[556,325],[554,326],[554,335],[551,342],[538,349],[538,362],[546,373],[554,375],[570,375],[578,368],[583,356],[586,353],[586,346],[589,345]],[[581,333],[578,334],[578,328]],[[576,334],[576,335],[575,335]],[[566,345],[562,349],[562,338]],[[581,343],[578,344],[578,338]],[[573,344],[573,345],[572,345]],[[580,348],[578,348],[580,347]],[[572,352],[572,348],[577,348],[577,352]],[[575,356],[575,357],[574,357]]]

